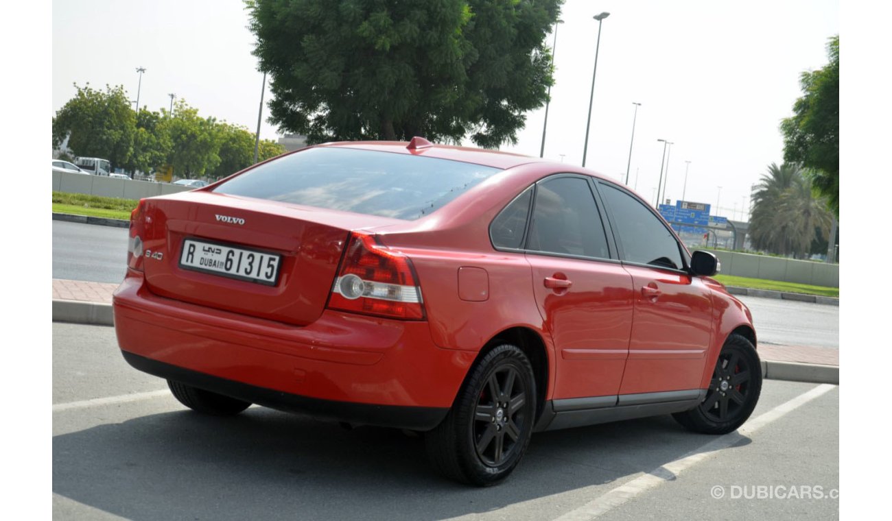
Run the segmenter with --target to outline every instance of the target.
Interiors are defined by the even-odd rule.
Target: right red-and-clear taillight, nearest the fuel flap
[[[328,307],[389,318],[421,320],[421,287],[408,256],[353,232]]]

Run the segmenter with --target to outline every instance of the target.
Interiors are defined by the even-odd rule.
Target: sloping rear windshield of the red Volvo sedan
[[[214,191],[414,220],[498,172],[450,159],[323,147],[272,160]]]

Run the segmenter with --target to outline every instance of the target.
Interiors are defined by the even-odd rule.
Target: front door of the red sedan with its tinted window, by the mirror
[[[699,387],[712,338],[711,289],[687,270],[674,233],[631,192],[599,182],[635,316],[620,395]]]

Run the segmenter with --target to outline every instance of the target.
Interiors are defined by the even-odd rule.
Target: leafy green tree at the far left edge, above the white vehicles
[[[124,87],[105,85],[105,91],[89,84],[56,112],[53,118],[53,146],[70,136],[68,148],[82,157],[103,158],[113,166],[127,163],[133,153],[136,115]]]

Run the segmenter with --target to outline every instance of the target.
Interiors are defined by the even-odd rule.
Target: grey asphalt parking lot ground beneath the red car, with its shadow
[[[54,519],[838,517],[838,387],[765,381],[726,436],[667,416],[542,433],[479,489],[434,475],[420,438],[260,407],[205,417],[130,368],[113,329],[53,337]]]

